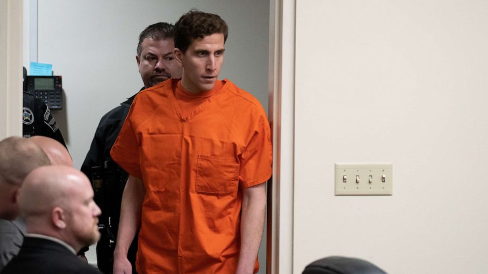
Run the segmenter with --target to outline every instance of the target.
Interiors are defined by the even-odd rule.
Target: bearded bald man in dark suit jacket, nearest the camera
[[[27,234],[2,274],[99,274],[76,257],[100,237],[101,211],[85,174],[62,165],[36,168],[24,181],[19,205]]]

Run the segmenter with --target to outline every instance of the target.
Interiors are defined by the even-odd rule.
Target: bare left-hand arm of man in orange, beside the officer
[[[119,234],[114,251],[114,274],[132,273],[127,251],[141,225],[142,202],[145,195],[146,188],[142,179],[129,175],[122,195]]]

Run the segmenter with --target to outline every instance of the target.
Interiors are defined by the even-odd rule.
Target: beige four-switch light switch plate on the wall
[[[345,183],[344,176],[346,176]],[[369,176],[371,176],[371,183]],[[382,178],[384,178],[384,182],[382,182]],[[393,195],[393,164],[336,163],[335,186],[336,196]]]

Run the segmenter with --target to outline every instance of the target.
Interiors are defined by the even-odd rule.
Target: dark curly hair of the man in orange
[[[191,9],[180,17],[175,24],[175,48],[185,53],[193,40],[222,33],[224,43],[229,35],[229,27],[220,16],[212,13],[206,13],[197,9]]]

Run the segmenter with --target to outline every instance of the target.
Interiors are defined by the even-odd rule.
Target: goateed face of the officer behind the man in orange
[[[182,68],[175,60],[173,39],[146,38],[141,43],[141,55],[136,55],[144,87],[148,88],[170,78],[181,78]]]

